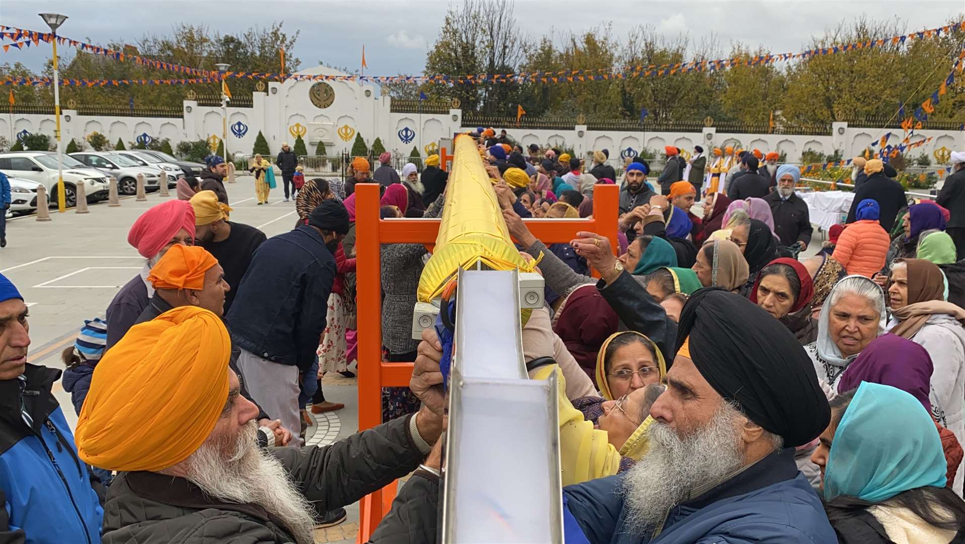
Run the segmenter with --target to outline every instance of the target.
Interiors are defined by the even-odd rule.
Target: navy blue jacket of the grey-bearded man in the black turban
[[[654,528],[626,527],[621,477],[564,488],[569,512],[594,544],[838,542],[821,501],[797,472],[794,449],[772,453],[699,498],[677,504],[656,538]]]

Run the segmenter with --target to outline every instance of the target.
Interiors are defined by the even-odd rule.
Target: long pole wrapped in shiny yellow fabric
[[[477,262],[495,270],[533,272],[535,267],[523,260],[512,244],[496,191],[473,139],[465,134],[457,136],[454,148],[435,250],[419,279],[420,302],[439,296],[459,267],[468,269]]]

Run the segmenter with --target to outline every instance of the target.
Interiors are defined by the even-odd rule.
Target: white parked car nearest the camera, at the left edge
[[[52,151],[15,151],[0,153],[0,172],[7,177],[23,177],[43,183],[51,203],[57,202],[57,153]],[[77,204],[77,183],[84,183],[88,203],[107,199],[109,182],[103,173],[64,155],[64,199]]]

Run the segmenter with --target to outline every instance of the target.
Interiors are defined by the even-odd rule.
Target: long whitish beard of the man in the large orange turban
[[[285,523],[298,544],[315,542],[314,509],[281,461],[258,448],[258,426],[246,423],[236,439],[209,437],[186,461],[186,478],[207,495],[254,503]]]

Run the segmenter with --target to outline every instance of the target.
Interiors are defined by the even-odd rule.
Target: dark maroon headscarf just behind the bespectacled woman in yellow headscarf
[[[596,353],[610,335],[620,328],[620,318],[596,290],[596,286],[579,286],[566,297],[553,324],[566,349],[576,359],[596,387]]]

